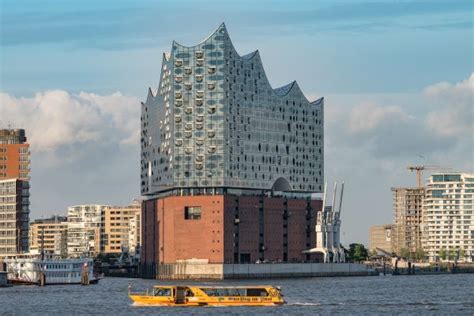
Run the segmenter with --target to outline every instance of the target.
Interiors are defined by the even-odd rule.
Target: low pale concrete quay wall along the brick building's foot
[[[157,266],[161,280],[223,280],[326,276],[368,276],[375,270],[357,263],[197,264]]]

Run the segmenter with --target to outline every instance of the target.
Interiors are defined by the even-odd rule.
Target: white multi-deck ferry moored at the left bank
[[[41,259],[35,255],[17,255],[3,260],[7,266],[8,281],[13,284],[94,284],[99,281],[94,274],[93,260]]]

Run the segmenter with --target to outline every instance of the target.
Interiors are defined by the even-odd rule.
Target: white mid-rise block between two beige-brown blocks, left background
[[[68,257],[97,256],[104,249],[104,215],[107,205],[68,207]]]

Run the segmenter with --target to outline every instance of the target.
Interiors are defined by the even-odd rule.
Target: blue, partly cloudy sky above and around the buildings
[[[0,128],[31,144],[31,218],[139,197],[140,101],[163,52],[226,23],[273,87],[325,97],[342,242],[391,223],[409,165],[474,170],[472,1],[0,1]],[[429,171],[425,172],[425,178]]]

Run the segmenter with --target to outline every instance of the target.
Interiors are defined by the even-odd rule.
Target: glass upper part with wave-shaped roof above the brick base
[[[141,115],[141,192],[322,192],[324,99],[296,81],[272,88],[257,51],[239,55],[226,27],[173,42]]]

